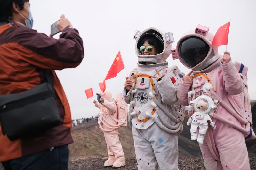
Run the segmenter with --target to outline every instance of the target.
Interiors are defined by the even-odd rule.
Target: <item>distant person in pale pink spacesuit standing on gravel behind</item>
[[[102,92],[97,93],[97,100],[93,101],[96,107],[98,107],[101,111],[100,113],[104,116],[105,120],[100,119],[100,129],[104,133],[104,137],[107,143],[108,148],[108,160],[105,161],[104,166],[114,168],[125,166],[125,157],[121,142],[119,140],[118,134],[120,133],[119,129],[108,128],[102,123],[102,121],[107,121],[110,124],[117,124],[111,117],[114,116],[117,119],[117,106],[114,100],[112,99],[112,95],[110,91],[107,89]],[[100,116],[102,117],[102,116]]]

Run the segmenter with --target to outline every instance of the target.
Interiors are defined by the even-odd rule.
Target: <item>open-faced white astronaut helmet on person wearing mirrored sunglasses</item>
[[[172,42],[174,42],[174,40],[173,35],[170,32],[165,33],[156,28],[150,27],[142,32],[137,30],[133,38],[136,40],[135,53],[138,56],[138,63],[163,63],[171,54]],[[151,46],[143,46],[145,41],[149,41],[148,44]],[[156,49],[151,48],[152,46]],[[153,52],[153,50],[156,51],[156,53],[154,55],[143,55],[142,53],[145,49],[147,49],[149,53],[151,51]]]

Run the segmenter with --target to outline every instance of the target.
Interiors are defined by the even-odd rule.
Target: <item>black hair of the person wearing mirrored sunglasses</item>
[[[148,44],[153,45],[156,48],[156,52],[162,53],[164,50],[163,42],[159,40],[155,35],[152,34],[146,34],[144,35],[140,41],[138,41],[137,48],[140,49],[140,46],[144,44],[144,42],[147,41]]]

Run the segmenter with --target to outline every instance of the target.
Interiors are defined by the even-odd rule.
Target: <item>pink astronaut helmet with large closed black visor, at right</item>
[[[176,49],[172,49],[172,57],[179,59],[194,74],[209,72],[219,65],[222,59],[218,47],[212,45],[213,38],[209,27],[198,24],[195,30],[185,33],[180,38]]]

